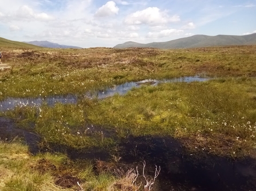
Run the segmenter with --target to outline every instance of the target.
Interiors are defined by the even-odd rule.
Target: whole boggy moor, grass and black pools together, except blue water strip
[[[255,48],[6,50],[12,68],[0,71],[1,100],[72,94],[78,101],[1,113],[0,188],[78,190],[80,182],[84,190],[143,190],[145,161],[148,178],[161,166],[153,190],[254,190]],[[84,96],[198,74],[216,79]]]

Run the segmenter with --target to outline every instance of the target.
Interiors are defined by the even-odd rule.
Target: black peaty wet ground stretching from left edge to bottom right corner
[[[37,147],[40,137],[33,132],[19,129],[13,120],[0,117],[0,131],[1,140],[22,137],[31,152],[44,152]],[[172,137],[129,136],[120,140],[117,148],[119,149],[115,155],[120,160],[113,162],[113,156],[102,149],[76,151],[61,145],[52,145],[52,151],[65,151],[72,160],[96,161],[96,170],[114,172],[117,168],[128,170],[138,166],[138,181],[142,182],[143,161],[146,162],[147,177],[153,178],[155,165],[161,166],[153,190],[256,190],[255,159],[230,159],[206,152],[190,153],[182,143]],[[66,181],[69,186],[73,180],[77,180],[76,177],[69,174],[58,177],[58,181]]]

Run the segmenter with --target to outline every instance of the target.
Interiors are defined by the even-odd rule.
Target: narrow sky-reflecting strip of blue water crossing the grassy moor
[[[99,90],[94,93],[87,93],[86,96],[89,98],[97,97],[99,99],[104,99],[106,97],[113,96],[115,94],[124,95],[133,87],[141,87],[143,84],[151,84],[151,86],[156,86],[159,83],[175,83],[175,82],[204,82],[208,78],[200,78],[200,76],[187,76],[182,78],[173,79],[146,79],[139,82],[127,82],[111,88],[106,88],[105,90]],[[58,96],[48,96],[48,97],[9,97],[3,101],[0,101],[0,112],[12,110],[15,107],[23,107],[29,105],[31,107],[41,107],[42,104],[54,105],[56,103],[62,104],[75,104],[77,102],[76,95],[58,95]]]

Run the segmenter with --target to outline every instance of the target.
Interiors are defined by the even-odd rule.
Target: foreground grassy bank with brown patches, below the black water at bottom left
[[[86,191],[120,190],[115,186],[116,183],[137,190],[127,178],[116,177],[110,172],[95,173],[89,161],[71,161],[61,153],[38,153],[31,156],[27,146],[19,141],[0,141],[0,151],[0,189],[3,191],[78,190],[77,184],[71,188],[55,184],[57,178],[65,174],[79,178]]]

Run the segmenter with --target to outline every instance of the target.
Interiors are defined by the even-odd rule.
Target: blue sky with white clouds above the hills
[[[113,47],[256,32],[256,0],[0,0],[0,37]]]

